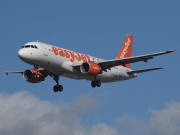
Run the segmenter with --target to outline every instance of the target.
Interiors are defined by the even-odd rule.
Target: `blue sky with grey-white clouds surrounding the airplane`
[[[46,134],[46,128],[51,134],[62,135],[179,133],[179,13],[178,0],[1,1],[0,118],[4,118],[6,124],[0,120],[3,125],[0,133],[19,135],[27,129],[31,135]],[[132,69],[160,66],[164,68],[161,71],[139,74],[129,81],[102,84],[97,89],[91,88],[86,80],[61,77],[62,93],[53,92],[55,82],[50,77],[45,82],[30,84],[22,75],[6,77],[4,73],[32,68],[17,56],[21,46],[29,41],[38,40],[113,59],[127,34],[134,35],[134,56],[174,48],[177,54],[131,65]],[[7,114],[12,115],[12,119],[9,120]],[[49,117],[44,117],[46,115]],[[173,119],[178,122],[168,124]],[[38,129],[29,125],[17,127],[12,120],[23,126],[26,126],[24,121],[42,126]],[[59,128],[63,125],[65,128]],[[7,130],[8,127],[11,130]]]

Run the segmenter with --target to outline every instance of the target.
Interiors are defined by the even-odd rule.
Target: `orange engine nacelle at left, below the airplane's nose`
[[[23,78],[30,83],[39,83],[44,81],[45,76],[35,69],[27,69],[23,72]]]

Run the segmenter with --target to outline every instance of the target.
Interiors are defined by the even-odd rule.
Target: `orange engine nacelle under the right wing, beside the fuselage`
[[[101,67],[92,62],[82,63],[82,65],[80,66],[80,70],[82,73],[88,75],[97,75],[102,73]]]

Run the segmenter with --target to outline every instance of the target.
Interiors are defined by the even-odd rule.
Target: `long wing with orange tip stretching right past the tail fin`
[[[147,62],[149,59],[153,59],[155,56],[168,54],[172,52],[175,53],[176,50],[168,50],[164,52],[158,52],[158,53],[152,53],[152,54],[146,54],[146,55],[140,55],[140,56],[134,56],[134,57],[126,57],[122,59],[105,60],[105,61],[97,62],[96,64],[100,65],[103,70],[106,70],[114,66],[119,66],[119,65],[124,66],[125,64],[135,63],[139,61]]]

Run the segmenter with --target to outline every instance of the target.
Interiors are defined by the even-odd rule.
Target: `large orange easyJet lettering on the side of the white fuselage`
[[[74,62],[75,60],[83,61],[83,62],[98,61],[99,60],[99,59],[90,57],[90,56],[85,55],[85,54],[80,54],[78,52],[72,52],[72,51],[65,50],[65,49],[58,48],[58,47],[54,47],[54,46],[52,46],[52,51],[54,52],[54,54],[56,56],[68,58],[71,62]]]

